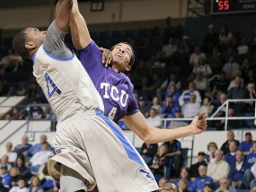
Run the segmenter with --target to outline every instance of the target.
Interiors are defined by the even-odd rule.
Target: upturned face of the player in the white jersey
[[[32,42],[36,47],[40,47],[46,38],[46,31],[39,31],[36,28],[27,28],[25,33],[28,36],[27,41]]]

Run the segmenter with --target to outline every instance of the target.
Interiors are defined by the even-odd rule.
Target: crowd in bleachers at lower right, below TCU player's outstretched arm
[[[227,132],[224,144],[209,142],[206,151],[198,153],[198,160],[188,166],[181,142],[174,140],[163,144],[143,144],[140,153],[158,180],[159,186],[172,182],[179,191],[255,190],[256,142],[251,132],[241,143],[234,139],[232,130]]]

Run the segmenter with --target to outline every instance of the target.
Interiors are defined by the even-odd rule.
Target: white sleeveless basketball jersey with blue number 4
[[[33,74],[49,100],[57,121],[63,121],[79,110],[104,111],[100,94],[75,54],[60,59],[51,56],[41,46],[33,61]]]

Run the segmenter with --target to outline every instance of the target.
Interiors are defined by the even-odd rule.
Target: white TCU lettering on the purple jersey
[[[120,90],[114,86],[110,85],[110,83],[101,83],[101,90],[104,91],[102,97],[104,99],[112,99],[115,101],[119,101],[120,105],[124,108],[128,102],[128,93],[124,90]]]

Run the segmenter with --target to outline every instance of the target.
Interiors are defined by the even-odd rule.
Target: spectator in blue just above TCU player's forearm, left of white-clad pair
[[[177,108],[179,108],[179,107],[173,103],[172,95],[168,96],[165,99],[165,101],[163,103],[163,107],[160,112],[161,118],[173,118],[175,109],[177,109]]]

